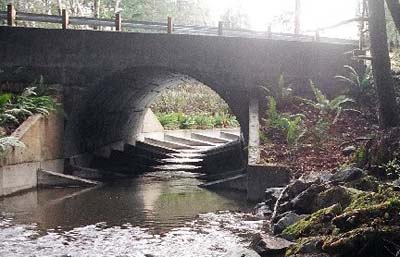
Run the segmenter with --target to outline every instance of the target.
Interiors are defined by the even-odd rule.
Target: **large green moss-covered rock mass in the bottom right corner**
[[[350,196],[346,206],[338,203],[321,209],[282,232],[283,237],[295,240],[286,256],[325,252],[343,257],[386,257],[391,256],[389,251],[400,250],[400,193],[387,185],[379,186],[376,192],[340,188]]]

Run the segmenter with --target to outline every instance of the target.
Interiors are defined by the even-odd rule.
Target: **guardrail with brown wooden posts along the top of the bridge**
[[[62,15],[48,15],[19,12],[15,10],[12,4],[7,6],[7,11],[0,11],[0,23],[4,20],[7,26],[16,26],[18,22],[23,22],[24,26],[29,26],[29,22],[34,23],[50,23],[59,24],[62,29],[90,29],[90,28],[105,28],[115,31],[134,31],[144,33],[176,33],[176,34],[192,34],[192,35],[210,35],[210,36],[226,36],[226,37],[250,37],[250,38],[267,38],[276,40],[290,40],[290,41],[321,41],[339,44],[358,44],[357,40],[339,39],[320,37],[319,32],[323,29],[317,29],[314,35],[302,35],[291,33],[274,33],[271,27],[267,31],[255,31],[244,29],[229,29],[224,27],[223,22],[218,23],[218,27],[208,26],[195,26],[195,25],[179,25],[174,24],[171,17],[163,22],[148,22],[148,21],[135,21],[123,20],[120,13],[115,15],[114,19],[99,19],[91,17],[70,17],[67,10],[62,10]],[[341,23],[340,25],[347,24]],[[19,24],[18,24],[19,25]],[[31,24],[32,25],[32,24]],[[82,27],[83,26],[83,27]],[[334,28],[336,26],[330,26]],[[325,28],[325,29],[329,29]]]

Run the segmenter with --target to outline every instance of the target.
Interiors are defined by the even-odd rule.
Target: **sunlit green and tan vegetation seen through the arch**
[[[165,90],[151,109],[165,129],[238,127],[228,104],[202,84],[182,84]]]

